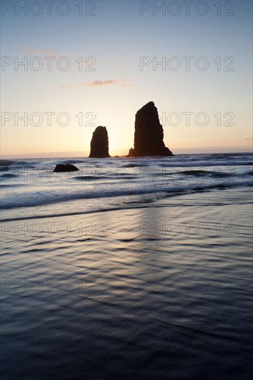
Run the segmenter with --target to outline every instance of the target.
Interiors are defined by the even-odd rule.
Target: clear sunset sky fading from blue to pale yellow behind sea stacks
[[[173,153],[251,151],[252,1],[1,1],[2,157],[127,154],[150,101]]]

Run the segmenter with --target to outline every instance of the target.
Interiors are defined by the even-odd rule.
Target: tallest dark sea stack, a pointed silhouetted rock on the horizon
[[[163,129],[153,102],[147,103],[135,115],[134,148],[129,157],[173,155],[163,142]]]

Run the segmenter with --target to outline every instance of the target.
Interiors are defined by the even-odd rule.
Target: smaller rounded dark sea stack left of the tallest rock
[[[109,155],[109,140],[105,126],[97,126],[91,139],[91,153],[88,157],[105,158]]]

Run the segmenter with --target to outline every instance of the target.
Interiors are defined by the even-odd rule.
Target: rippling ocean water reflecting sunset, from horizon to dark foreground
[[[3,379],[250,379],[252,162],[1,160]]]

